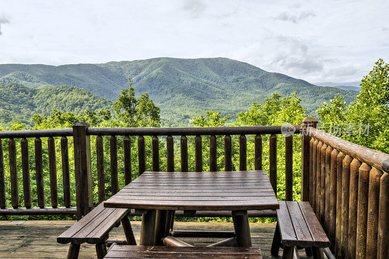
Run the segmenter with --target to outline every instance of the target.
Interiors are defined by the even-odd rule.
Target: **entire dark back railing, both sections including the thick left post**
[[[295,134],[301,132],[301,126],[295,126]],[[270,182],[277,192],[277,135],[282,133],[282,126],[248,126],[248,127],[192,127],[192,128],[95,128],[89,127],[85,122],[77,122],[72,129],[53,129],[53,130],[22,130],[22,131],[3,131],[0,132],[0,215],[39,215],[39,214],[77,214],[80,219],[87,214],[93,207],[93,192],[92,192],[92,174],[97,177],[98,203],[106,199],[105,187],[105,167],[104,167],[104,143],[103,136],[109,136],[109,156],[110,156],[110,179],[111,193],[115,194],[119,190],[119,174],[118,174],[118,152],[123,152],[124,164],[124,184],[128,184],[132,179],[131,172],[131,136],[138,138],[138,168],[141,174],[146,170],[146,143],[145,136],[151,136],[151,155],[152,169],[159,171],[159,138],[166,137],[166,162],[167,171],[188,172],[188,138],[194,137],[195,146],[195,171],[203,171],[203,138],[209,136],[209,168],[211,171],[217,171],[217,139],[224,138],[224,168],[220,170],[231,171],[232,164],[232,138],[231,136],[239,136],[239,170],[247,170],[247,135],[254,137],[254,164],[256,170],[262,169],[262,135],[269,136],[269,178]],[[91,166],[91,140],[90,136],[95,136],[95,152],[96,152],[96,170],[92,172]],[[175,164],[174,159],[174,136],[180,138],[180,165]],[[224,136],[224,137],[223,137]],[[55,139],[62,137],[60,140],[61,146],[61,163],[62,172],[57,172],[57,161],[55,151]],[[76,207],[71,207],[71,180],[69,166],[69,150],[68,137],[73,137],[74,151],[74,181],[76,190]],[[123,138],[123,150],[118,150],[118,137]],[[34,139],[35,138],[35,139]],[[42,138],[47,138],[47,154],[42,152]],[[8,141],[9,161],[3,159],[2,141]],[[21,156],[17,156],[17,146],[20,141]],[[36,179],[36,197],[37,207],[32,207],[31,198],[31,178],[30,163],[32,161],[29,156],[29,142],[34,141],[35,149],[35,179]],[[285,184],[286,199],[292,200],[293,188],[293,136],[286,138],[285,143],[285,161],[286,171]],[[18,145],[17,145],[18,144]],[[30,145],[31,148],[31,145]],[[208,148],[208,147],[207,147]],[[31,153],[31,152],[30,152]],[[219,152],[220,154],[220,152]],[[47,155],[47,157],[46,157]],[[249,154],[250,155],[250,154]],[[19,157],[19,158],[18,158]],[[21,160],[21,175],[19,172],[17,160]],[[133,159],[134,160],[134,159]],[[48,163],[50,184],[44,185],[44,162]],[[177,161],[177,159],[176,159]],[[4,162],[9,162],[9,183],[5,183]],[[20,162],[20,161],[19,161]],[[72,162],[72,161],[71,161]],[[46,164],[45,164],[46,165]],[[208,165],[207,165],[208,166]],[[63,179],[63,204],[58,204],[58,189],[57,173],[62,173]],[[45,173],[46,175],[46,173]],[[19,183],[22,178],[21,185],[24,197],[24,207],[19,204]],[[6,191],[10,185],[11,206],[7,207]],[[35,186],[34,186],[35,187]],[[45,203],[45,189],[50,189],[50,205]],[[47,195],[46,195],[47,196]],[[74,195],[73,195],[74,197]],[[10,201],[8,201],[9,203]],[[74,201],[73,201],[74,204]],[[272,213],[274,215],[274,213]],[[266,213],[264,214],[266,216]]]

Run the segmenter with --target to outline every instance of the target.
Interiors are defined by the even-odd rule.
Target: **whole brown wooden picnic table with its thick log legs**
[[[230,210],[236,242],[250,247],[248,210],[278,209],[279,203],[263,170],[237,172],[144,172],[104,207],[142,213],[140,245],[159,245],[169,235],[174,211]]]

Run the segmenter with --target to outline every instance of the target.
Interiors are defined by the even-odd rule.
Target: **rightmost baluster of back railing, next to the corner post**
[[[293,201],[293,135],[285,137],[285,201]]]

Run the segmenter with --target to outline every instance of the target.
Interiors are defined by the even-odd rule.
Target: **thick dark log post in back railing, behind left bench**
[[[92,173],[90,160],[89,124],[76,122],[73,125],[74,175],[76,182],[77,220],[89,212],[93,206]]]

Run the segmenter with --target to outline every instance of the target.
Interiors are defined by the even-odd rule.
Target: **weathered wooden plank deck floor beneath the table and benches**
[[[0,221],[0,258],[66,258],[68,245],[56,242],[56,237],[73,224],[74,221]],[[135,238],[139,243],[141,222],[131,222]],[[250,223],[253,246],[259,246],[263,258],[270,255],[270,246],[275,224]],[[233,231],[232,223],[176,222],[176,230],[224,230]],[[122,226],[114,228],[109,239],[124,239]],[[194,245],[204,246],[221,239],[184,239]],[[81,259],[95,258],[94,245],[81,245]],[[280,256],[282,249],[280,250]],[[301,258],[306,258],[300,252]]]

